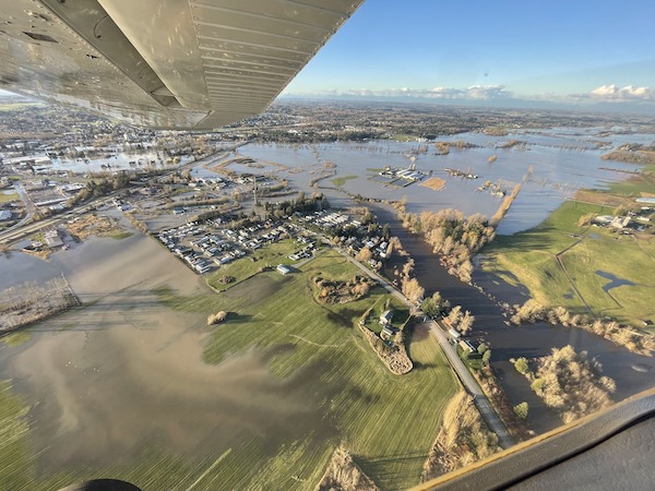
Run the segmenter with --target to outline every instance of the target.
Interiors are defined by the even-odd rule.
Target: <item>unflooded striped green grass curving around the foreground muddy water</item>
[[[155,290],[165,306],[182,311],[230,312],[211,331],[204,357],[219,363],[233,355],[259,348],[272,351],[270,370],[281,379],[299,376],[308,386],[317,430],[277,440],[245,435],[231,450],[213,448],[201,457],[148,446],[129,464],[97,469],[70,467],[55,475],[35,474],[37,455],[28,450],[27,406],[0,386],[0,482],[11,489],[50,490],[87,476],[111,477],[142,489],[315,489],[332,452],[344,443],[355,462],[381,489],[418,483],[422,464],[436,438],[445,405],[457,384],[437,344],[427,332],[409,336],[415,363],[410,373],[389,372],[356,328],[359,316],[385,297],[381,288],[357,301],[322,306],[313,278],[352,278],[358,271],[334,252],[282,276],[266,272],[221,295],[180,297],[164,286]],[[288,379],[291,380],[291,379]],[[296,379],[293,379],[296,380]],[[296,385],[296,382],[293,382]],[[327,434],[320,428],[329,424]],[[282,440],[281,440],[282,439]],[[199,442],[199,445],[201,442]],[[165,470],[163,470],[165,469]],[[9,488],[8,488],[9,489]]]

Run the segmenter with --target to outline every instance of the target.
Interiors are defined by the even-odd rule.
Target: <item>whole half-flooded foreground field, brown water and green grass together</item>
[[[346,308],[312,300],[317,271],[353,274],[332,254],[222,295],[140,233],[92,238],[32,266],[15,255],[36,279],[63,273],[85,303],[27,330],[21,344],[0,342],[0,380],[26,411],[23,451],[9,457],[22,482],[314,489],[347,441],[382,488],[416,484],[457,385],[430,338],[410,336],[421,369],[404,378],[366,347],[353,325],[382,290]],[[229,321],[207,327],[219,308]]]

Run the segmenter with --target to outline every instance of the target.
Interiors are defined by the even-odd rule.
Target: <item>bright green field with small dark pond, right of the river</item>
[[[655,318],[655,237],[622,236],[600,227],[579,227],[587,213],[611,214],[610,208],[569,201],[538,227],[514,236],[499,236],[483,253],[483,267],[508,283],[512,273],[531,295],[546,306],[563,306],[575,313],[609,315],[642,326]],[[556,254],[560,254],[561,264]],[[609,283],[596,272],[634,283],[606,292]],[[567,275],[568,273],[568,275]],[[577,294],[575,291],[577,290]],[[582,299],[580,298],[582,297]],[[584,300],[584,301],[583,301]]]

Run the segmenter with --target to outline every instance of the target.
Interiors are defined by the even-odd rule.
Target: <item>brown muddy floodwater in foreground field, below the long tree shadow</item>
[[[3,376],[28,394],[40,467],[129,462],[145,445],[204,455],[245,435],[273,443],[320,431],[301,376],[269,372],[273,351],[207,366],[189,319],[162,314],[166,323],[151,314],[147,328],[41,333],[12,357]]]

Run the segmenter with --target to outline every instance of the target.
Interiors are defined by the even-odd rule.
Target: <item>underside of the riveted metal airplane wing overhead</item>
[[[210,130],[263,111],[362,1],[7,1],[0,88]]]

